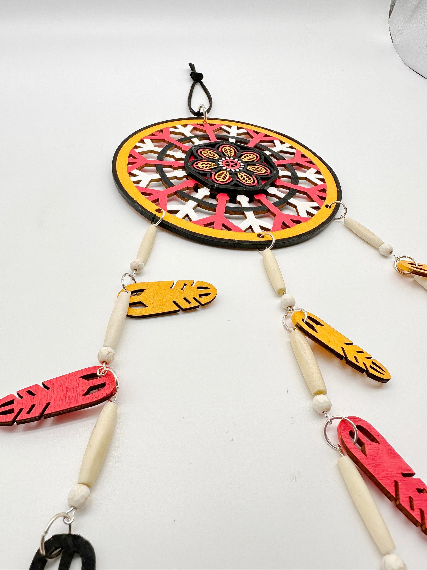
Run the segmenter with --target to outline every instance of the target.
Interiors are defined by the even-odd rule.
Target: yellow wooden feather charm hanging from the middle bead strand
[[[326,348],[327,351],[332,352],[340,360],[346,359],[346,364],[352,368],[359,372],[365,372],[369,378],[377,382],[388,382],[390,380],[390,373],[382,364],[319,317],[307,312],[307,320],[304,323],[303,312],[295,311],[291,318],[294,325],[306,336],[320,344],[321,347]]]

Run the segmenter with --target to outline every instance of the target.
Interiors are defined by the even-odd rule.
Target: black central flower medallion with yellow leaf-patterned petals
[[[251,198],[265,194],[278,176],[276,164],[262,150],[224,141],[192,146],[186,154],[185,169],[213,194]]]

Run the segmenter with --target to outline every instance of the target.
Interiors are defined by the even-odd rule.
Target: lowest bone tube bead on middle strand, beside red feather
[[[382,555],[392,552],[396,548],[395,543],[373,500],[371,491],[369,491],[366,483],[363,481],[362,475],[360,475],[357,467],[351,461],[350,457],[340,457],[338,459],[338,467],[350,492],[351,498],[379,551]]]

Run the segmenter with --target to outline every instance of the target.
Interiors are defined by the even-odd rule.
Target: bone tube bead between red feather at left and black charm
[[[104,463],[116,425],[117,404],[106,402],[96,421],[81,462],[78,483],[92,487]]]

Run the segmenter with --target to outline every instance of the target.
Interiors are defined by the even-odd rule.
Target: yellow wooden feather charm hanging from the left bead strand
[[[128,317],[134,319],[190,311],[212,303],[216,297],[211,283],[192,279],[131,283],[126,290],[130,293]]]

